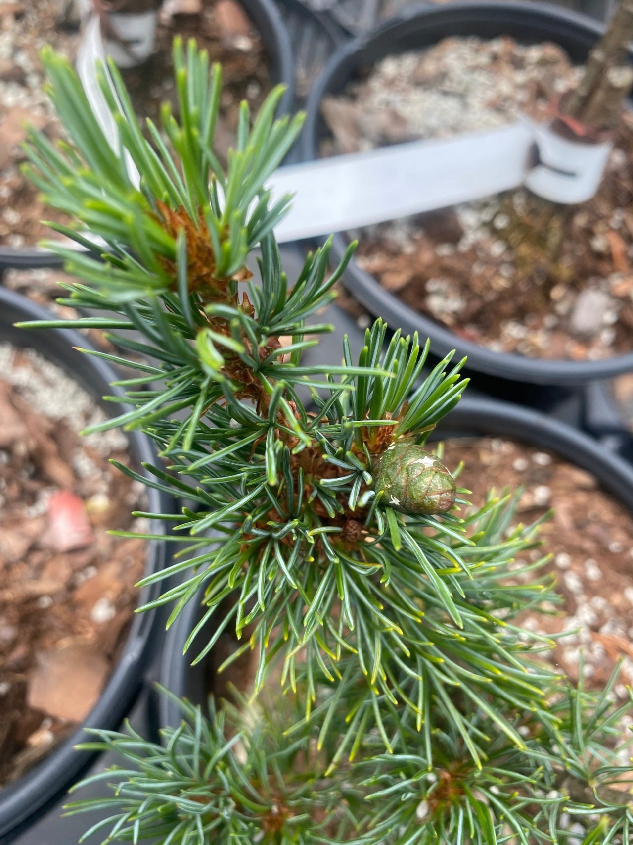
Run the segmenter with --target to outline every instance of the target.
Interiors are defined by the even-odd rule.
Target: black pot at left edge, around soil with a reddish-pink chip
[[[117,378],[115,371],[100,358],[84,355],[73,349],[80,346],[91,349],[84,335],[69,329],[17,329],[14,323],[22,320],[54,319],[54,315],[19,294],[0,287],[0,342],[29,347],[40,352],[52,363],[64,369],[91,396],[95,397],[109,416],[123,410],[101,401],[102,395],[123,395],[122,388],[111,387]],[[127,433],[129,453],[133,462],[142,470],[142,462],[158,461],[154,443],[143,433]],[[145,473],[149,478],[149,473]],[[149,510],[171,513],[174,503],[165,493],[147,488]],[[163,528],[154,526],[154,531]],[[165,567],[167,542],[150,541],[146,546],[145,575]],[[145,587],[139,603],[149,602],[158,596],[159,586]],[[114,730],[127,713],[143,679],[143,668],[156,639],[156,613],[149,611],[133,618],[121,657],[111,673],[99,701],[84,722],[66,741],[57,746],[50,756],[31,769],[19,781],[0,790],[0,842],[10,842],[24,827],[32,824],[46,807],[75,782],[89,766],[94,755],[78,752],[74,746],[86,739],[84,728]]]

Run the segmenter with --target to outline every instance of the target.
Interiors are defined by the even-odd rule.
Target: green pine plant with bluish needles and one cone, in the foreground
[[[120,352],[94,354],[138,373],[120,383],[132,410],[89,430],[140,428],[162,458],[146,483],[195,503],[143,514],[169,519],[182,547],[142,581],[170,579],[147,608],[172,605],[171,623],[202,596],[196,660],[229,629],[241,642],[225,667],[257,656],[252,702],[208,719],[185,702],[163,744],[97,732],[91,747],[124,767],[96,776],[110,798],[70,811],[109,814],[91,829],[107,842],[533,845],[568,842],[573,815],[586,845],[628,845],[615,681],[570,689],[542,659],[551,641],[521,626],[555,599],[547,557],[526,562],[538,524],[517,524],[516,491],[469,509],[427,449],[463,362],[428,373],[428,342],[387,341],[377,320],[358,361],[345,339],[340,366],[303,363],[331,329],[306,320],[354,245],[332,273],[327,243],[294,284],[284,275],[273,229],[288,200],[269,208],[264,185],[300,118],[274,119],[280,90],[252,127],[242,107],[223,172],[219,68],[193,44],[176,41],[177,114],[165,107],[151,141],[102,68],[116,150],[68,63],[44,61],[70,141],[31,134],[29,172],[85,248],[53,246],[78,280],[62,301],[111,313],[76,324],[107,328]]]

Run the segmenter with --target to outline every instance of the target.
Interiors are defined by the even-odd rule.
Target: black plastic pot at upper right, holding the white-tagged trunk
[[[321,117],[323,97],[340,93],[362,69],[371,67],[384,57],[424,49],[449,35],[479,35],[483,38],[511,35],[523,43],[555,41],[573,62],[583,63],[602,32],[602,25],[591,18],[540,3],[455,2],[408,9],[334,54],[308,100],[301,142],[303,159],[311,161],[319,155],[319,142],[325,132]],[[420,190],[424,190],[424,185],[420,186]],[[347,245],[344,234],[336,234],[333,259],[341,259]],[[452,349],[457,350],[457,357],[467,356],[468,370],[478,373],[474,382],[476,386],[504,398],[529,401],[530,388],[527,385],[569,387],[613,378],[633,369],[633,352],[605,361],[582,362],[540,361],[507,352],[491,352],[463,340],[435,320],[408,308],[372,275],[362,270],[354,259],[349,264],[344,283],[370,313],[385,319],[392,330],[401,328],[405,334],[417,331],[421,337],[429,337],[431,352],[437,358],[444,357]],[[512,388],[511,382],[525,386],[515,385]]]

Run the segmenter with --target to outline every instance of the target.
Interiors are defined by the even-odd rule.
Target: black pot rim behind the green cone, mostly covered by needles
[[[434,440],[454,437],[503,437],[521,440],[538,449],[555,452],[560,458],[590,472],[604,491],[617,499],[625,510],[633,512],[633,465],[595,439],[571,428],[567,423],[544,417],[528,408],[511,402],[490,399],[463,399],[446,419],[442,420]],[[202,616],[197,600],[189,602],[168,632],[160,683],[179,698],[186,697],[194,704],[207,701],[213,668],[207,657],[192,666],[192,659],[203,646],[201,635],[183,656],[187,637]],[[209,625],[213,624],[212,622]],[[160,724],[177,727],[181,711],[166,696],[160,701]]]

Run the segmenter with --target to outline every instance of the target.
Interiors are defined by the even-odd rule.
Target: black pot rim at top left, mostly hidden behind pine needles
[[[240,0],[246,14],[266,46],[273,83],[286,86],[279,113],[290,111],[295,98],[295,60],[290,36],[279,8],[273,0]],[[61,267],[62,259],[39,247],[12,248],[0,245],[0,271],[9,268],[30,270],[35,267]]]

